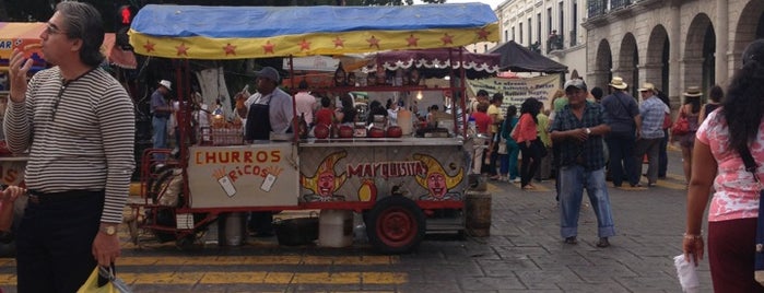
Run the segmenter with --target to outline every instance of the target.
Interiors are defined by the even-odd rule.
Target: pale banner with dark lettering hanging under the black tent
[[[480,90],[487,91],[489,95],[494,93],[503,94],[502,113],[509,105],[515,105],[519,110],[520,104],[529,97],[539,99],[544,104],[544,109],[549,109],[554,92],[561,87],[559,74],[526,79],[490,78],[469,80],[467,84],[472,96]]]

